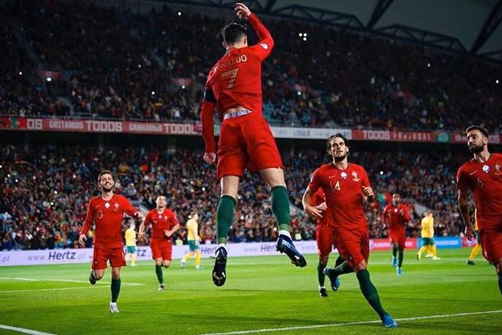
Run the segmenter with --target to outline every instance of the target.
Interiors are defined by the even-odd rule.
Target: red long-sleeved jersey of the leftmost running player
[[[101,196],[95,196],[89,201],[86,221],[82,227],[81,234],[86,234],[95,223],[94,247],[100,248],[122,248],[122,220],[124,213],[133,216],[138,212],[125,196],[113,194],[110,200],[104,200]]]

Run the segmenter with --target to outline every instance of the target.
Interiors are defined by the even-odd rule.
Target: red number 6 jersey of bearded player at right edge
[[[502,227],[502,155],[492,153],[484,163],[471,159],[457,171],[457,187],[471,189],[476,202],[478,228]]]

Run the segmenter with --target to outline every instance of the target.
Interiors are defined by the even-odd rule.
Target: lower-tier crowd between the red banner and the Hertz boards
[[[79,229],[92,196],[99,194],[97,174],[111,169],[116,192],[155,208],[155,198],[165,194],[182,228],[178,243],[187,240],[185,223],[191,210],[201,216],[203,242],[215,240],[215,204],[220,191],[214,166],[204,164],[199,150],[168,147],[4,146],[0,155],[0,250],[77,248]],[[386,237],[381,210],[389,194],[400,192],[413,204],[434,210],[437,235],[459,235],[462,223],[455,198],[455,171],[466,157],[435,151],[362,151],[350,160],[366,166],[378,194],[378,203],[366,207],[371,237]],[[283,151],[285,176],[292,205],[292,236],[312,240],[315,224],[301,210],[301,196],[317,166],[329,162],[317,150]],[[194,169],[197,166],[197,169]],[[419,217],[414,215],[408,233],[417,236]],[[130,219],[125,219],[123,229]],[[276,224],[267,186],[256,175],[246,174],[230,230],[231,242],[276,240]],[[148,232],[147,232],[148,234]],[[92,232],[91,232],[92,235]],[[139,244],[146,244],[140,240]],[[88,240],[87,247],[92,244]]]

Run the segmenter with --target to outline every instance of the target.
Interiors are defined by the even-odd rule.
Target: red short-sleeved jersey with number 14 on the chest
[[[345,170],[332,163],[324,164],[315,170],[308,185],[313,192],[322,188],[328,207],[326,215],[337,231],[367,226],[363,186],[370,186],[368,174],[363,166],[352,163]]]

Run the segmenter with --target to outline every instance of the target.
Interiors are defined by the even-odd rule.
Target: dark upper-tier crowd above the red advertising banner
[[[81,2],[23,3],[1,14],[21,26],[42,62],[63,70],[63,95],[74,114],[198,120],[205,77],[223,52],[221,17],[168,6],[139,15]],[[270,123],[393,130],[458,130],[479,123],[502,132],[502,119],[492,117],[502,108],[502,84],[495,84],[500,65],[327,26],[264,21],[276,42],[262,75]],[[72,114],[63,102],[54,113],[51,92],[19,82],[19,57],[13,55],[23,52],[9,41],[10,56],[2,64],[11,80],[1,83],[3,91],[16,92],[10,88],[16,86],[26,100],[45,103],[24,111],[18,95],[9,94],[2,96],[0,114]]]

